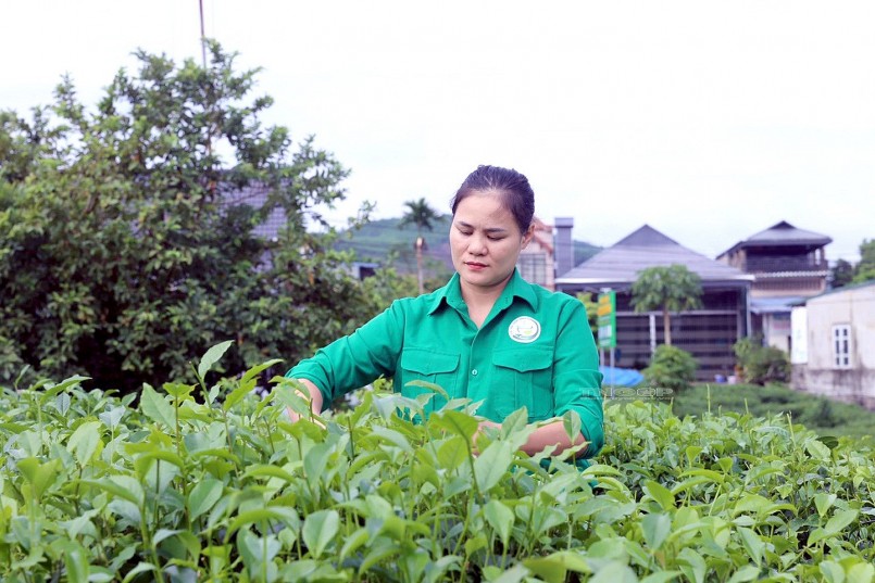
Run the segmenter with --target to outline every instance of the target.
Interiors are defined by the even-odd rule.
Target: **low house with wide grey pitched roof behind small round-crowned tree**
[[[700,380],[733,373],[735,342],[750,328],[748,301],[753,276],[691,251],[645,225],[555,280],[566,293],[616,292],[616,366],[641,369],[663,342],[662,317],[638,314],[632,306],[632,284],[648,267],[685,265],[702,282],[702,307],[672,316],[673,344],[699,363]],[[558,269],[562,267],[558,263]]]

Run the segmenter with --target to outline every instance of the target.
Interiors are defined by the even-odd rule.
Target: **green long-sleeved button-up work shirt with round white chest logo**
[[[516,271],[479,328],[468,317],[457,274],[433,293],[392,302],[286,376],[312,381],[325,406],[385,376],[405,396],[429,392],[407,386],[423,380],[451,398],[483,402],[477,414],[495,422],[520,407],[528,409],[529,422],[575,410],[590,443],[585,456],[604,443],[602,375],[584,304]],[[436,395],[426,413],[443,404]]]

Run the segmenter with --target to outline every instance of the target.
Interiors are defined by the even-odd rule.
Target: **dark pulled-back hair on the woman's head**
[[[477,166],[476,170],[467,175],[450,201],[452,214],[455,215],[455,208],[466,197],[489,191],[500,194],[504,208],[513,215],[520,231],[526,232],[535,216],[535,191],[532,190],[528,178],[514,169]]]

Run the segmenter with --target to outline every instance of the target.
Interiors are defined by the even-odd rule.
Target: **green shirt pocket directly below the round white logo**
[[[492,353],[495,410],[502,417],[521,407],[528,420],[553,416],[553,351],[549,347],[512,348]]]

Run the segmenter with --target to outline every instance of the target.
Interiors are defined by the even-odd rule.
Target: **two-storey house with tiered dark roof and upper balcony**
[[[790,309],[826,290],[829,267],[824,248],[832,241],[782,220],[717,256],[755,278],[750,293],[751,335],[790,352]]]

